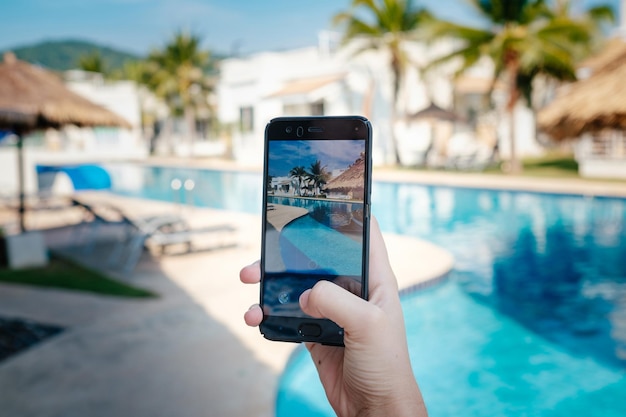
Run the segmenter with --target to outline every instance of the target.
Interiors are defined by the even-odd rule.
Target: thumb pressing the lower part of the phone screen
[[[382,318],[377,306],[330,281],[319,281],[303,292],[300,307],[310,316],[334,321],[351,336],[369,333],[372,324]]]

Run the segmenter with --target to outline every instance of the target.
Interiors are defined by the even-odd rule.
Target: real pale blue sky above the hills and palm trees
[[[471,19],[466,0],[416,0],[441,18]],[[582,3],[620,0],[574,0]],[[177,30],[228,55],[315,45],[350,0],[0,0],[0,50],[85,39],[147,55]]]

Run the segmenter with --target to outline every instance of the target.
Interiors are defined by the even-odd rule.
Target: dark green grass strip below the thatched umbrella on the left
[[[0,269],[0,282],[54,287],[117,297],[151,298],[156,294],[111,279],[71,261],[53,257],[48,266]]]

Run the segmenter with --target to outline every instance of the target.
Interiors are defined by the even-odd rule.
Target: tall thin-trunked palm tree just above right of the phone
[[[400,86],[409,64],[405,44],[422,23],[430,20],[431,14],[414,7],[411,0],[352,0],[350,10],[333,18],[336,25],[344,26],[344,42],[356,39],[364,42],[357,53],[383,50],[389,54],[392,73],[391,142],[397,164],[400,163],[400,152],[393,126]]]

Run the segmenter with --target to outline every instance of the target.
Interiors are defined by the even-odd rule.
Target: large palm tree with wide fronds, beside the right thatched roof
[[[574,80],[577,60],[590,52],[600,23],[612,19],[613,13],[608,6],[597,6],[574,16],[569,0],[469,2],[488,23],[485,27],[470,27],[434,22],[425,31],[428,37],[450,36],[460,40],[461,46],[433,64],[461,58],[461,73],[480,58],[491,58],[494,63],[492,86],[501,78],[507,86],[505,109],[509,120],[511,172],[519,172],[521,164],[516,154],[513,116],[516,104],[524,97],[527,105],[532,106],[533,80],[540,74],[560,81]]]

